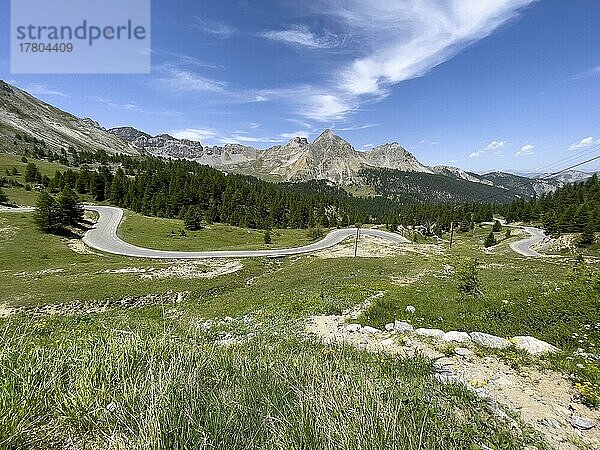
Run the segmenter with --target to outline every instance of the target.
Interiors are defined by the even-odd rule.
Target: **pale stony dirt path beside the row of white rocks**
[[[383,295],[380,292],[375,297]],[[435,360],[440,381],[467,386],[489,401],[501,417],[507,418],[502,407],[519,413],[525,423],[543,434],[552,448],[600,449],[600,412],[577,401],[577,392],[567,377],[537,367],[517,370],[497,357],[478,356],[471,344],[453,344],[452,347],[458,347],[452,349],[448,343],[415,333],[400,334],[348,324],[372,299],[342,315],[313,316],[307,330],[325,344],[349,344],[406,357],[424,354]],[[595,426],[586,431],[576,429],[572,421],[578,417],[591,419]]]

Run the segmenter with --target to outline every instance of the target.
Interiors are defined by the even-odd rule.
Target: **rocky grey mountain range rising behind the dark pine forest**
[[[401,195],[398,187],[403,186],[403,192],[416,189],[413,193],[418,193],[423,201],[427,201],[428,189],[433,186],[442,189],[438,196],[440,200],[469,199],[464,194],[470,191],[478,193],[471,200],[498,196],[508,191],[510,195],[504,195],[508,200],[515,195],[550,192],[566,183],[589,177],[589,174],[578,171],[546,178],[505,172],[476,174],[450,166],[430,167],[419,162],[397,142],[369,151],[357,151],[329,129],[313,142],[296,137],[284,145],[265,150],[233,143],[204,146],[201,142],[177,139],[168,134],[151,136],[132,127],[107,130],[92,119],[78,118],[0,81],[0,149],[18,151],[20,141],[15,138],[17,135],[44,141],[47,146],[56,149],[74,147],[193,160],[225,172],[252,175],[267,181],[325,180],[345,187],[354,186],[355,189],[371,188],[372,193],[383,195]],[[387,181],[383,182],[384,179]],[[410,184],[407,184],[409,179]],[[413,186],[415,183],[418,186]],[[446,192],[448,190],[452,192]]]

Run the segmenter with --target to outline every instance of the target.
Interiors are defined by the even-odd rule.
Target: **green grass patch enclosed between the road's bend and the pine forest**
[[[182,235],[182,232],[185,235]],[[121,239],[134,245],[158,250],[265,250],[299,247],[313,242],[308,230],[275,229],[270,245],[264,231],[226,224],[211,224],[199,231],[185,230],[182,220],[127,213],[118,229]]]

